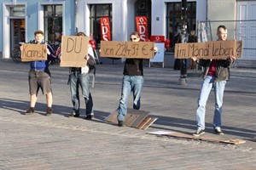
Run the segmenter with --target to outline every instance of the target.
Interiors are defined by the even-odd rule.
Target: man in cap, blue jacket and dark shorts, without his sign
[[[35,31],[34,32],[35,40],[34,43],[44,44],[44,32]],[[22,51],[22,48],[20,48]],[[34,108],[38,99],[38,90],[42,89],[43,94],[46,96],[47,102],[47,111],[45,116],[49,116],[52,113],[52,90],[51,90],[51,79],[49,72],[49,62],[55,59],[55,53],[53,48],[47,44],[47,60],[31,61],[30,62],[30,71],[28,73],[29,81],[29,92],[30,92],[30,108],[26,111],[25,115],[31,115],[34,113]]]

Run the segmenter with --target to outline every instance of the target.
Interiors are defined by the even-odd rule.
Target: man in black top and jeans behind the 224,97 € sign
[[[137,31],[131,33],[131,42],[139,42],[140,35]],[[154,47],[156,53],[158,49]],[[125,124],[125,115],[127,113],[127,103],[131,92],[133,93],[133,109],[139,110],[141,103],[141,93],[143,88],[143,59],[126,59],[124,67],[124,77],[122,82],[121,99],[117,116],[118,126],[123,127]]]

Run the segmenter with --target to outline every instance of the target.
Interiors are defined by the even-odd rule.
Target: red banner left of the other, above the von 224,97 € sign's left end
[[[111,41],[110,22],[108,17],[101,18],[101,40]]]

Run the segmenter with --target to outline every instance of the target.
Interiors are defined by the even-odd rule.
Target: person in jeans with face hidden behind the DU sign
[[[77,33],[76,36],[85,37],[84,32]],[[87,61],[84,67],[70,67],[70,75],[69,81],[70,83],[70,93],[71,100],[73,103],[73,110],[69,114],[69,116],[79,117],[79,109],[80,109],[80,99],[79,99],[79,86],[82,88],[82,94],[85,100],[86,111],[85,111],[85,119],[90,120],[93,117],[92,107],[93,101],[90,94],[90,66],[94,65],[94,53],[91,45],[88,47],[88,55],[85,56],[85,60]]]

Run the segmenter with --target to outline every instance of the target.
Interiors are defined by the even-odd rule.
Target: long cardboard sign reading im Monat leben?
[[[227,59],[231,55],[241,58],[242,41],[227,40],[175,44],[174,56],[176,59],[189,59],[190,57],[198,59]]]

